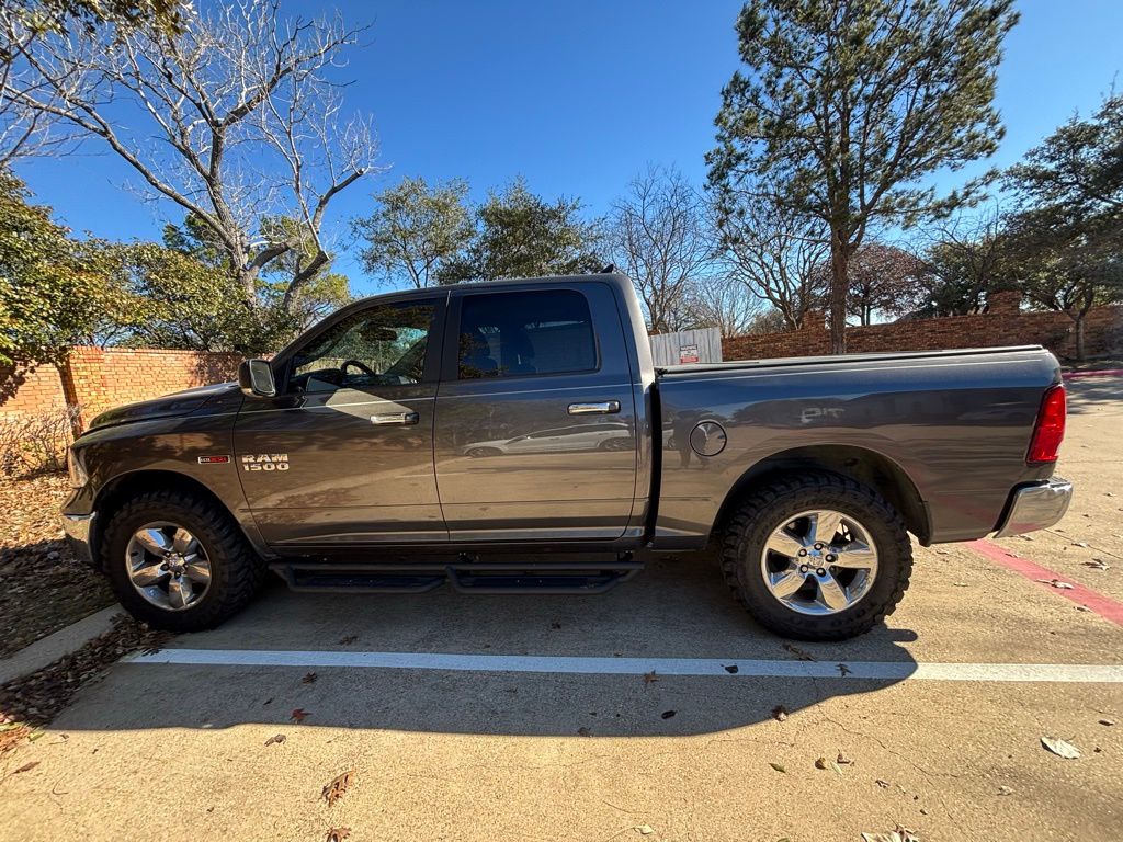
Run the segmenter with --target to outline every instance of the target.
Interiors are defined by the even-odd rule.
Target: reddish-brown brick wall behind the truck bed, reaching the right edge
[[[1016,293],[1006,301],[995,295],[990,311],[978,315],[847,328],[851,353],[946,350],[1002,345],[1043,345],[1061,359],[1076,356],[1075,322],[1065,313],[1017,310]],[[806,357],[831,353],[831,335],[821,313],[809,313],[801,330],[722,340],[724,359]],[[1089,357],[1123,353],[1123,306],[1102,306],[1088,313],[1085,354]]]

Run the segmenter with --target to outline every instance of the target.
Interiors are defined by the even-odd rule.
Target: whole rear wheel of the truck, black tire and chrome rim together
[[[798,640],[846,640],[896,608],[912,574],[912,543],[876,491],[816,472],[746,498],[725,530],[721,567],[738,601],[767,629]]]

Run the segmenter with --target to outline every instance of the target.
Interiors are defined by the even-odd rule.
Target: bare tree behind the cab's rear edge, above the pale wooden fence
[[[677,170],[649,166],[609,214],[608,247],[636,283],[652,332],[691,320],[694,286],[714,271],[706,203]]]

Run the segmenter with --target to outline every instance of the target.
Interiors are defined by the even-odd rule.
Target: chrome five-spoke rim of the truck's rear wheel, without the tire
[[[868,530],[848,514],[801,512],[768,536],[760,573],[785,607],[837,614],[869,593],[877,577],[877,548]]]

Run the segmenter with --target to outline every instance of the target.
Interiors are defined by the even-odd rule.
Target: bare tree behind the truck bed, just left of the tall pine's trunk
[[[761,200],[719,213],[721,245],[731,272],[749,292],[797,330],[825,301],[830,278],[819,267],[830,255],[825,226]]]

